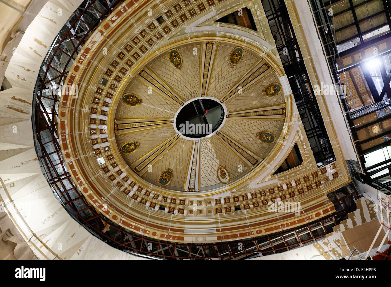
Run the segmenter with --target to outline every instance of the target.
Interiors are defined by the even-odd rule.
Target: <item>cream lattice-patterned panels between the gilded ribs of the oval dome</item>
[[[201,52],[194,55],[194,48],[201,51],[202,43],[178,48],[183,58],[181,69],[175,68],[168,59],[167,53],[156,57],[146,65],[147,70],[154,74],[154,77],[163,81],[167,87],[172,89],[184,102],[192,98],[199,97],[199,87],[202,69]],[[213,67],[210,74],[205,96],[221,100],[225,94],[237,87],[237,82],[248,78],[256,65],[263,61],[262,57],[254,52],[245,50],[244,57],[235,67],[228,64],[230,52],[235,45],[230,43],[219,43],[213,59]],[[243,93],[235,95],[224,101],[228,114],[231,112],[246,112],[252,109],[274,109],[273,105],[283,105],[283,93],[277,96],[264,96],[262,91],[268,84],[278,82],[274,73],[265,73],[264,77],[256,79],[251,86],[243,89]],[[135,129],[118,131],[116,134],[118,148],[129,142],[137,141],[140,147],[136,152],[123,155],[127,164],[133,169],[147,155],[161,144],[169,141],[177,134],[173,123],[175,113],[180,105],[168,99],[164,93],[153,91],[148,94],[148,84],[139,75],[133,78],[125,89],[125,93],[134,93],[142,99],[142,104],[129,106],[120,102],[116,111],[116,120],[126,119],[129,123],[140,123],[151,120],[166,120],[162,125],[149,129]],[[269,116],[270,117],[270,116]],[[233,141],[243,150],[252,154],[256,160],[261,161],[271,151],[273,145],[265,144],[256,137],[257,132],[267,131],[273,133],[278,138],[284,123],[283,116],[249,117],[248,119],[228,118],[220,130],[229,140]],[[217,178],[219,166],[226,168],[230,175],[230,180],[241,178],[248,173],[253,164],[245,160],[235,150],[233,150],[222,137],[214,134],[212,137],[200,140],[200,170],[197,176],[199,180],[199,190],[209,190],[218,187],[220,182]],[[170,168],[173,171],[173,179],[166,187],[174,190],[185,190],[188,180],[188,169],[191,169],[190,160],[192,158],[193,140],[179,138],[170,146],[167,151],[156,157],[152,171],[143,170],[140,175],[151,184],[158,185],[161,173]],[[242,166],[242,170],[238,168]],[[220,184],[221,185],[221,184]]]

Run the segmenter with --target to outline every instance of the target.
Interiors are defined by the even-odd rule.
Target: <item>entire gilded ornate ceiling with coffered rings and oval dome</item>
[[[316,166],[262,5],[228,3],[126,1],[70,68],[63,157],[89,203],[128,230],[229,241],[335,210],[326,192],[346,176],[341,162]],[[256,31],[215,21],[238,5]],[[303,163],[275,173],[295,144]],[[300,210],[268,210],[288,200]]]

